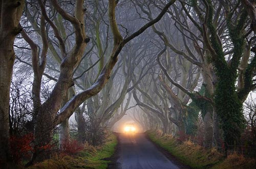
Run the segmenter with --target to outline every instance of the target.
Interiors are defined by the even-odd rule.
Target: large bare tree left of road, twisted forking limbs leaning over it
[[[53,32],[54,36],[58,41],[58,54],[59,59],[61,60],[61,64],[59,70],[59,77],[58,79],[56,79],[55,86],[49,98],[44,103],[41,103],[40,101],[40,94],[37,93],[37,95],[35,95],[36,98],[34,98],[35,100],[37,100],[35,104],[38,104],[35,115],[34,129],[34,147],[36,151],[34,152],[29,164],[32,164],[33,161],[39,156],[43,158],[43,156],[41,156],[41,154],[43,153],[41,153],[42,150],[40,148],[49,144],[51,140],[52,129],[56,125],[69,118],[81,103],[83,103],[88,98],[96,95],[102,90],[106,82],[108,82],[109,80],[111,72],[115,64],[117,63],[118,54],[120,53],[123,46],[141,33],[143,33],[148,27],[159,21],[166,12],[166,10],[169,8],[169,6],[172,5],[175,1],[170,1],[169,3],[167,3],[160,12],[160,14],[156,17],[156,19],[146,23],[138,31],[123,39],[119,32],[118,25],[115,19],[115,8],[117,6],[117,1],[110,0],[109,22],[113,34],[113,46],[108,61],[106,62],[104,67],[102,67],[102,69],[100,68],[101,72],[99,73],[98,78],[97,80],[95,80],[93,85],[78,94],[74,94],[74,96],[72,96],[67,103],[65,103],[65,99],[68,98],[68,90],[74,85],[74,70],[80,64],[87,43],[89,42],[89,38],[86,35],[85,24],[83,21],[83,15],[86,10],[83,9],[83,1],[76,1],[75,7],[73,8],[74,10],[72,11],[74,12],[74,16],[72,16],[67,11],[65,11],[63,9],[64,6],[61,7],[61,4],[58,4],[57,1],[52,0],[50,2],[51,8],[56,10],[59,16],[62,17],[65,21],[71,23],[70,25],[72,25],[72,29],[74,29],[74,45],[69,50],[69,48],[65,44],[65,41],[62,39],[59,30],[57,29],[56,23],[54,23],[48,16],[48,10],[51,10],[51,8],[47,8],[47,6],[49,6],[49,3],[43,3],[42,1],[38,1],[38,6],[40,7],[41,12],[40,36],[42,37],[42,45],[40,46],[42,46],[43,49],[40,53],[41,59],[39,59],[38,54],[35,54],[38,53],[38,46],[35,45],[34,42],[31,42],[29,38],[26,38],[26,35],[24,34],[25,40],[30,44],[30,46],[33,46],[32,59],[35,60],[35,64],[32,64],[32,66],[34,74],[38,75],[39,77],[38,79],[37,77],[34,78],[38,82],[38,86],[40,86],[39,82],[42,78],[41,75],[44,73],[44,62],[47,59],[47,46],[49,45],[49,48],[51,47],[50,43],[47,43],[47,36],[45,35],[45,30],[47,30],[47,26],[46,24],[44,24],[44,20],[48,22],[51,31]],[[38,67],[40,68],[39,71]]]

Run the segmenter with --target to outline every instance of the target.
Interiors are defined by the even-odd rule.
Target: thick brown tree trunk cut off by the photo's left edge
[[[24,1],[0,2],[0,168],[11,168],[9,147],[9,100],[12,69],[15,60],[14,39],[22,29],[18,27]]]

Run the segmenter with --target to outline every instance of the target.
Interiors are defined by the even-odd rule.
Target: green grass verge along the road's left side
[[[114,134],[108,138],[108,141],[102,147],[93,147],[86,145],[84,150],[75,156],[54,156],[52,159],[36,163],[29,169],[73,169],[73,168],[95,168],[105,169],[111,162],[110,157],[115,152],[117,138]]]

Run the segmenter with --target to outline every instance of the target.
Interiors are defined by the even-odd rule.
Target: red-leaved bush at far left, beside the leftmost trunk
[[[11,153],[15,162],[20,162],[22,158],[30,156],[30,152],[33,151],[30,145],[33,139],[33,133],[22,136],[10,136]]]

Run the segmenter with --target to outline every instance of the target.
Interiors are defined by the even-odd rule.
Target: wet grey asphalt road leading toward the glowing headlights
[[[120,169],[178,169],[159,149],[150,142],[144,133],[120,133],[118,168]]]

